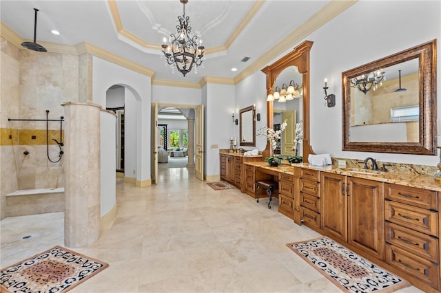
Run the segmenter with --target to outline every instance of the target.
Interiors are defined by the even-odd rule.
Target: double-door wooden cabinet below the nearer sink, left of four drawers
[[[384,259],[382,182],[322,172],[321,228],[358,252]]]

